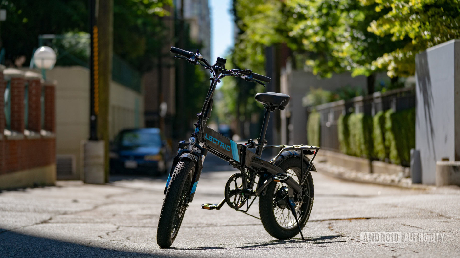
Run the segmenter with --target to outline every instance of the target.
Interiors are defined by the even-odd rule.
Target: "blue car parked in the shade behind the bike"
[[[158,128],[122,130],[111,146],[110,170],[112,173],[164,174],[170,150]]]

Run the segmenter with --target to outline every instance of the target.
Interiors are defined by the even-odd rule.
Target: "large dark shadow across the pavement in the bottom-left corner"
[[[144,252],[129,252],[98,247],[100,243],[72,243],[39,236],[29,236],[0,228],[1,258],[99,258],[99,257],[136,257],[166,258],[171,254],[161,255]],[[149,248],[150,249],[150,248]]]

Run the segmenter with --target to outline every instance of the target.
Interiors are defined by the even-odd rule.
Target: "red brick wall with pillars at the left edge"
[[[0,67],[1,70],[1,67]],[[56,141],[53,134],[40,135],[41,88],[45,87],[45,130],[54,131],[55,83],[43,84],[39,75],[24,77],[23,72],[5,69],[0,73],[0,176],[16,171],[39,168],[56,163]],[[4,89],[11,80],[11,135],[4,135]],[[28,129],[35,135],[24,135],[24,85],[29,82]]]

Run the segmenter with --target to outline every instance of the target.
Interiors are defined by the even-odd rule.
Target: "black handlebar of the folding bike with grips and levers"
[[[209,62],[207,62],[200,54],[199,52],[196,52],[193,53],[191,51],[186,51],[186,50],[183,50],[183,49],[180,49],[180,48],[177,48],[177,47],[171,47],[170,49],[171,52],[173,52],[174,54],[177,54],[179,56],[184,56],[185,59],[192,61],[190,60],[192,57],[196,56],[199,58],[200,61],[203,61],[205,62],[205,64],[207,64],[207,66],[205,66],[205,68],[207,69],[210,69],[213,73],[214,73],[214,66],[211,66],[209,64]],[[195,63],[196,62],[196,63]],[[193,58],[193,62],[192,64],[199,64],[199,62],[197,62],[195,60],[195,58]],[[262,84],[265,86],[265,84],[261,83],[260,81],[263,81],[263,82],[266,82],[266,83],[270,83],[271,81],[271,78],[270,77],[267,77],[267,76],[264,76],[262,74],[259,74],[259,73],[253,73],[251,70],[249,69],[246,69],[246,70],[240,70],[240,69],[232,69],[232,70],[226,70],[224,69],[224,76],[237,76],[237,77],[241,77],[241,78],[244,78],[245,80],[247,81],[254,81],[254,82],[257,82],[259,84]],[[229,72],[229,73],[227,73]],[[215,75],[215,74],[214,74]],[[215,75],[216,76],[216,75]]]

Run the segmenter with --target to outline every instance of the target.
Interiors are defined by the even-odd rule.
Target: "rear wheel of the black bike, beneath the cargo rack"
[[[304,175],[303,184],[300,182],[300,157],[288,157],[277,164],[304,189],[303,196],[294,199],[295,211],[300,228],[304,228],[313,207],[313,178],[311,173]],[[304,168],[307,164],[304,161]],[[265,189],[265,195],[259,199],[259,214],[265,230],[278,239],[289,239],[299,234],[297,222],[288,206],[288,185],[281,182],[271,182]]]

